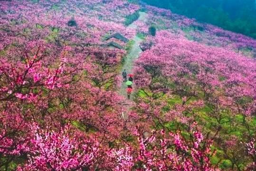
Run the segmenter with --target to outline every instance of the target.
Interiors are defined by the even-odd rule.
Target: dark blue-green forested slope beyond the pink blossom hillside
[[[173,13],[196,18],[256,38],[256,0],[143,0]]]

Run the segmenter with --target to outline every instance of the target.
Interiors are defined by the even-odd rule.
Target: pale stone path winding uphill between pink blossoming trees
[[[145,21],[146,20],[146,15],[147,14],[145,12],[140,12],[140,17],[138,18],[138,20]],[[136,29],[137,27],[138,26],[135,25],[134,23],[132,23],[131,25],[128,26],[128,28],[133,28],[133,29]],[[135,43],[133,44],[133,47],[132,47],[130,53],[128,53],[126,55],[124,65],[122,67],[122,71],[123,71],[123,69],[126,69],[127,74],[130,74],[130,73],[133,72],[134,60],[136,60],[139,57],[140,53],[142,52],[142,50],[140,48],[140,43],[142,42],[142,39],[140,37],[138,37],[137,35],[135,35],[134,38],[133,38],[133,41]],[[125,98],[127,98],[126,88],[127,88],[127,85],[125,85],[125,83],[122,83],[122,86],[121,86],[121,88],[118,92],[119,94],[123,95]],[[135,87],[133,85],[133,92],[134,92],[134,88]],[[130,102],[132,100],[133,100],[133,94],[131,94]]]

